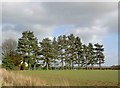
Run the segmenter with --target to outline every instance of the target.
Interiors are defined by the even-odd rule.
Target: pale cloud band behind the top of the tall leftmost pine
[[[33,31],[35,36],[41,41],[45,37],[52,37],[52,32],[56,26],[44,26],[39,24],[4,24],[2,26],[2,39],[14,38],[17,40],[20,38],[23,31],[30,30]]]

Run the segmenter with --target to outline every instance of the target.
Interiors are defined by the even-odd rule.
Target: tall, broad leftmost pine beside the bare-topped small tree
[[[23,57],[23,63],[28,63],[28,69],[31,69],[31,65],[35,65],[37,61],[38,43],[37,38],[33,32],[25,31],[22,33],[22,37],[18,40],[17,51]]]

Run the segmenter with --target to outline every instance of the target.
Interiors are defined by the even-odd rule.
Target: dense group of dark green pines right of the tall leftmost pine
[[[103,53],[97,56],[97,51],[92,43],[89,43],[88,46],[82,45],[81,39],[73,34],[58,36],[57,40],[54,37],[53,41],[45,38],[40,45],[46,69],[88,69],[89,66],[93,67],[98,62],[102,64],[100,57],[102,58]],[[99,57],[99,61],[96,57]]]

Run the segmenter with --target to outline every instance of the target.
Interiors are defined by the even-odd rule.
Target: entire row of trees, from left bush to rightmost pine
[[[8,49],[9,52],[4,47],[4,43],[2,64],[3,67],[9,69],[19,66],[21,69],[29,70],[36,69],[36,67],[80,69],[94,65],[101,67],[101,64],[104,63],[103,45],[98,43],[94,45],[92,43],[82,44],[80,37],[75,37],[73,34],[54,37],[53,40],[45,38],[38,42],[33,32],[25,31],[18,40],[18,44],[13,45],[17,48],[12,47],[13,50]],[[25,63],[28,64],[27,67]]]

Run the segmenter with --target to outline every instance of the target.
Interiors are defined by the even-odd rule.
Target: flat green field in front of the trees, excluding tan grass
[[[40,70],[19,71],[37,77],[50,86],[117,86],[117,70]]]

